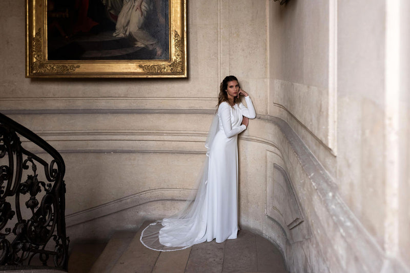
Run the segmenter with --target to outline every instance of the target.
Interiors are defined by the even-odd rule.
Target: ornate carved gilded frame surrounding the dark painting
[[[169,0],[169,59],[48,60],[47,0],[26,0],[26,77],[188,77],[186,2]]]

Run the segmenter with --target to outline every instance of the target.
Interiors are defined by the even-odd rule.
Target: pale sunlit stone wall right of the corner
[[[291,125],[334,183],[323,196],[312,179],[325,210],[302,206],[321,246],[315,255],[334,253],[325,259],[332,272],[396,272],[408,260],[408,234],[399,231],[410,220],[403,214],[409,195],[403,10],[407,3],[385,1],[270,5],[269,113]],[[303,203],[306,186],[297,176],[290,175]],[[344,216],[332,211],[339,206]]]

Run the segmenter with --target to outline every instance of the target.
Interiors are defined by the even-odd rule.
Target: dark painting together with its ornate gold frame
[[[56,3],[60,3],[56,0],[26,0],[26,77],[188,77],[186,0],[144,0],[142,3],[147,4],[145,7],[142,6],[141,8],[140,5],[139,8],[135,8],[135,6],[133,6],[132,12],[137,12],[134,13],[136,17],[138,17],[139,14],[142,16],[143,12],[144,14],[148,14],[147,10],[155,10],[155,7],[157,7],[157,12],[158,10],[161,10],[161,7],[165,7],[162,8],[162,10],[165,10],[165,12],[162,12],[162,15],[158,13],[159,15],[157,18],[162,17],[160,20],[151,19],[151,21],[149,21],[154,22],[156,24],[156,28],[158,29],[158,33],[162,33],[163,35],[161,37],[165,37],[162,39],[165,46],[161,46],[162,44],[160,45],[159,38],[157,39],[155,36],[152,36],[152,39],[154,40],[151,42],[152,44],[148,46],[141,46],[141,44],[139,44],[138,47],[136,44],[139,43],[139,41],[135,38],[135,35],[132,36],[129,34],[127,36],[126,34],[120,34],[122,36],[119,36],[119,38],[115,37],[114,39],[112,39],[112,37],[110,38],[110,35],[111,32],[113,33],[111,36],[114,35],[114,32],[117,33],[118,26],[120,25],[118,23],[120,18],[125,18],[124,16],[121,17],[120,14],[123,9],[127,11],[125,3],[137,3],[139,1],[76,0],[71,2],[75,2],[76,5],[80,3],[79,5],[83,5],[85,9],[84,7],[78,8],[77,5],[75,7],[77,9],[77,15],[75,16],[71,15],[74,14],[74,12],[70,9],[75,10],[71,6],[65,7],[60,4],[59,7],[55,8],[55,5],[58,5]],[[66,1],[65,3],[71,2]],[[104,6],[110,5],[107,3],[113,2],[117,4],[116,11],[111,11],[111,7]],[[95,12],[100,21],[94,20],[92,17],[87,17],[90,14],[90,3],[98,4],[93,7],[95,10],[101,10],[101,4],[103,4],[103,7],[106,8],[104,12]],[[118,5],[118,3],[120,4]],[[122,8],[121,3],[123,3]],[[157,6],[158,3],[162,3],[160,4],[161,6]],[[81,9],[83,9],[82,13]],[[84,10],[86,12],[84,12]],[[112,10],[114,10],[114,8]],[[131,8],[129,10],[131,10]],[[106,11],[109,15],[106,14]],[[115,15],[113,15],[114,13],[117,14],[116,21],[112,19],[115,17]],[[155,12],[151,13],[154,14]],[[164,14],[165,16],[163,16]],[[70,16],[75,17],[76,21],[70,18]],[[93,23],[84,23],[86,20],[79,19],[81,16]],[[112,23],[109,22],[110,20],[108,18],[112,20]],[[79,21],[82,25],[78,24]],[[98,22],[105,23],[102,24]],[[161,24],[157,22],[161,22]],[[97,32],[91,31],[94,29],[94,25],[99,27],[99,24],[104,26],[100,27]],[[115,26],[114,30],[113,24]],[[68,26],[68,31],[64,29],[66,26]],[[80,31],[79,29],[81,28],[78,28],[78,26],[80,26],[83,30]],[[87,32],[87,30],[85,31],[84,29],[87,29],[90,32]],[[87,33],[92,34],[87,36]],[[148,32],[147,30],[147,33],[151,32]],[[116,43],[116,46],[113,46],[114,42]],[[81,43],[86,46],[82,46]],[[134,47],[129,46],[130,43],[134,43]],[[79,44],[81,45],[79,46]],[[117,44],[121,44],[121,47],[124,46],[122,44],[126,44],[126,46],[124,46],[125,49],[121,48]],[[93,47],[97,50],[89,50],[90,48],[94,49]],[[82,50],[78,50],[78,48],[81,48]],[[127,50],[131,51],[131,53],[127,53]],[[121,53],[124,54],[120,55]]]

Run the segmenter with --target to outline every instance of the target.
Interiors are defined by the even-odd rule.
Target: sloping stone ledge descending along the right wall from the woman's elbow
[[[294,155],[297,157],[300,166],[303,168],[306,177],[312,183],[317,195],[320,197],[321,204],[326,209],[330,219],[336,224],[338,232],[345,241],[345,250],[347,252],[347,254],[337,254],[338,258],[341,259],[340,255],[352,255],[355,259],[354,263],[358,263],[356,265],[358,268],[356,269],[360,272],[384,273],[387,272],[384,269],[386,264],[389,268],[393,268],[394,265],[395,272],[409,272],[402,262],[394,258],[386,257],[386,254],[377,244],[376,240],[367,232],[350,208],[344,203],[338,194],[337,185],[331,176],[326,172],[324,167],[315,158],[299,136],[293,131],[290,125],[278,117],[258,116],[258,118],[272,122],[280,128],[286,141],[289,142]],[[280,151],[283,154],[286,149],[280,147]],[[289,158],[289,156],[292,155],[284,156],[284,158]],[[295,179],[293,179],[293,181],[295,181]],[[297,187],[298,186],[296,186],[296,192],[299,192],[300,194]],[[318,215],[316,216],[324,223],[323,227],[327,228],[326,221],[329,221],[329,217],[326,217],[326,219],[320,219],[323,215],[321,217]],[[312,228],[312,231],[315,234],[314,237],[323,236],[320,235],[320,233],[318,234],[315,228]],[[335,244],[332,243],[334,242],[331,240],[329,241],[329,245],[321,245],[322,251],[325,251],[324,248],[326,247],[332,248],[334,253],[337,253],[337,250],[340,251],[340,249],[335,249]],[[327,251],[329,251],[329,249]],[[386,261],[388,262],[386,263]],[[354,267],[353,265],[348,264],[348,261],[345,262],[345,264],[339,264],[339,266],[341,266],[339,269],[344,268],[342,270],[345,270],[351,268],[351,266]],[[353,261],[351,260],[351,262]],[[330,271],[333,271],[332,268],[332,266],[329,267]]]

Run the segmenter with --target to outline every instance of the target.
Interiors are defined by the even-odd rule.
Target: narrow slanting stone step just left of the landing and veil
[[[112,267],[127,249],[135,232],[116,232],[111,237],[103,253],[91,267],[89,273],[109,273]]]

